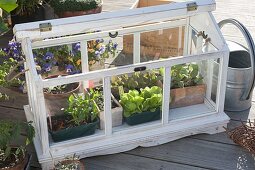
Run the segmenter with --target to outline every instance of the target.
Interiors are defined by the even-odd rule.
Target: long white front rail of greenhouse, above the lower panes
[[[136,67],[146,66],[146,69],[152,70],[152,69],[157,69],[160,67],[168,67],[168,66],[173,66],[177,64],[197,62],[197,61],[202,61],[206,59],[217,59],[222,57],[222,55],[223,55],[223,51],[210,52],[210,53],[204,53],[199,55],[172,57],[172,58],[162,59],[158,61],[149,61],[149,62],[143,62],[138,64],[131,64],[128,66],[120,66],[115,68],[108,68],[105,70],[97,70],[97,71],[88,72],[88,73],[68,75],[65,77],[58,77],[54,79],[45,79],[45,80],[42,80],[42,83],[43,83],[43,87],[46,88],[46,87],[62,85],[66,83],[79,82],[81,80],[91,80],[94,78],[103,78],[107,76],[116,76],[116,75],[121,75],[125,73],[132,73]]]

